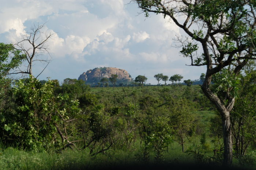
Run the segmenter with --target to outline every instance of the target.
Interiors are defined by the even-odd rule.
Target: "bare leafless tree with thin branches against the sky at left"
[[[47,33],[46,31],[43,31],[44,27],[44,24],[34,24],[30,28],[31,31],[26,33],[26,35],[22,37],[22,40],[15,44],[17,50],[24,52],[26,55],[25,61],[27,63],[27,69],[24,71],[18,68],[18,70],[13,72],[13,74],[22,73],[33,76],[32,66],[35,64],[34,62],[39,61],[46,63],[44,69],[36,76],[37,78],[48,66],[51,59],[44,58],[45,56],[43,56],[43,54],[48,53],[48,56],[51,57],[48,51],[49,49],[47,42],[50,38],[52,38],[53,33]]]

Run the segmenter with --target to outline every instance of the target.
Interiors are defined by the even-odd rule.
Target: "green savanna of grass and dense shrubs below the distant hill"
[[[220,117],[199,85],[91,88],[30,78],[6,90],[3,170],[222,163]],[[255,167],[253,144],[233,168]]]

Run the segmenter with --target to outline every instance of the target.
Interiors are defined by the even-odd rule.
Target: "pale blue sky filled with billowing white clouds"
[[[130,0],[0,0],[0,4],[0,42],[15,44],[34,24],[45,24],[42,31],[53,34],[48,41],[51,62],[40,80],[62,82],[96,67],[116,67],[134,79],[145,75],[146,83],[157,84],[157,73],[195,80],[206,71],[187,66],[189,58],[175,47],[174,39],[185,36],[183,30],[163,15],[145,18]],[[39,57],[49,58],[47,53]],[[34,75],[44,66],[34,63]]]

